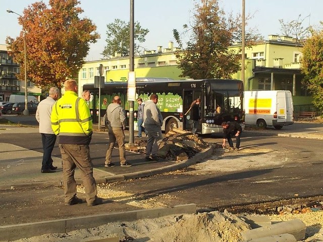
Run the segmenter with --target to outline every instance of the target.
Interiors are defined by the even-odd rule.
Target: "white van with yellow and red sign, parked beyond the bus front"
[[[285,125],[294,124],[290,91],[245,91],[244,110],[246,125],[274,126],[280,130]]]

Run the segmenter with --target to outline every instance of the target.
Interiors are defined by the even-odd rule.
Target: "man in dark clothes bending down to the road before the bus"
[[[223,122],[221,124],[223,127],[223,144],[222,147],[226,147],[226,140],[228,140],[229,146],[231,150],[234,150],[233,142],[231,137],[236,137],[236,150],[238,151],[240,149],[240,136],[242,133],[241,126],[236,122]]]

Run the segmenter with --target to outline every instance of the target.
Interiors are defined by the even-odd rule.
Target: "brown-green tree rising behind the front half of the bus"
[[[240,15],[233,17],[229,14],[227,17],[218,0],[202,0],[196,4],[187,47],[176,55],[181,77],[231,78],[237,73],[240,70],[240,49],[228,47],[236,41],[241,43],[241,22]],[[179,32],[175,29],[173,34],[182,47]],[[259,37],[257,33],[246,35],[250,41]]]

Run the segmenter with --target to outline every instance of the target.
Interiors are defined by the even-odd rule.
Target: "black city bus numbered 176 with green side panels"
[[[93,123],[98,123],[99,90],[94,84],[83,85],[83,90],[91,92],[89,107]],[[114,96],[121,97],[123,107],[129,117],[126,82],[106,82],[101,88],[100,115],[105,114],[107,105]],[[198,134],[222,133],[222,122],[237,122],[244,128],[243,83],[240,80],[203,79],[172,80],[169,78],[136,78],[136,97],[143,101],[155,93],[164,118],[162,130],[167,133],[172,128],[190,131],[193,120],[190,118],[190,105],[201,98],[201,123]],[[134,106],[134,120],[137,117],[137,102]]]

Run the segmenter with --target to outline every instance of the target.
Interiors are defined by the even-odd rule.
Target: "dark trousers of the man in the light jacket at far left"
[[[52,166],[51,152],[55,146],[56,135],[51,134],[41,134],[42,148],[43,148],[43,156],[41,169],[48,170]]]

